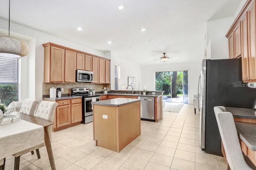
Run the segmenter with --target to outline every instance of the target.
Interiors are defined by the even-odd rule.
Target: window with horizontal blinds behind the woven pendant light
[[[17,58],[0,57],[0,99],[6,106],[18,101],[18,62]]]

